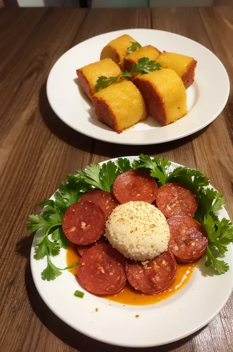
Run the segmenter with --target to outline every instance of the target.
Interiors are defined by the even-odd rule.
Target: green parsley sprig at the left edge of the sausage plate
[[[47,257],[47,267],[42,271],[42,280],[55,280],[63,270],[77,266],[73,263],[64,269],[56,267],[51,260],[60,253],[60,248],[66,248],[68,240],[62,231],[62,218],[66,209],[79,201],[82,194],[90,190],[90,186],[77,179],[66,179],[61,182],[59,190],[55,193],[55,201],[45,199],[39,204],[45,209],[40,215],[29,215],[26,224],[30,232],[35,232],[37,240],[34,252],[36,260]]]

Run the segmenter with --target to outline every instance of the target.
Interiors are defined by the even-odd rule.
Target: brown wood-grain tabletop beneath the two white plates
[[[229,73],[231,94],[210,126],[170,143],[124,146],[80,135],[52,112],[45,85],[59,56],[91,36],[127,28],[185,35],[219,57]],[[46,307],[32,281],[27,215],[38,211],[39,201],[49,197],[67,173],[116,156],[167,156],[208,175],[233,218],[232,39],[229,6],[0,10],[0,351],[132,351],[91,340],[64,324]],[[137,351],[233,352],[232,317],[231,297],[201,331],[171,345]]]

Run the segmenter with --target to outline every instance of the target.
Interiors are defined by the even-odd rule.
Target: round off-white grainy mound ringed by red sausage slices
[[[113,210],[105,236],[126,258],[145,261],[168,248],[170,231],[166,217],[153,205],[128,202]]]

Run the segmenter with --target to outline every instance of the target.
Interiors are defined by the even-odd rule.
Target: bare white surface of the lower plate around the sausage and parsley
[[[136,157],[128,159],[133,161]],[[172,163],[171,169],[177,166]],[[229,218],[224,208],[219,216]],[[63,272],[53,282],[43,281],[40,274],[47,262],[33,258],[34,246],[35,242],[30,254],[32,277],[47,306],[74,329],[113,345],[151,347],[182,339],[212,320],[226,304],[233,288],[233,246],[230,245],[224,258],[230,266],[227,273],[207,276],[211,269],[205,268],[201,260],[190,281],[174,296],[148,306],[123,306],[116,302],[109,306],[107,299],[88,292],[83,299],[75,297],[76,289],[85,290],[70,272]],[[64,249],[53,262],[59,268],[66,266]],[[99,311],[95,312],[95,308]]]

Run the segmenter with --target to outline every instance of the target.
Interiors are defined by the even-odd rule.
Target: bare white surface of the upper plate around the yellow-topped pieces
[[[98,61],[102,48],[119,35],[128,34],[144,45],[194,57],[194,83],[187,90],[189,113],[168,126],[151,116],[144,123],[117,134],[97,120],[91,101],[78,86],[76,70]],[[210,124],[223,110],[230,92],[227,72],[219,59],[203,45],[174,33],[131,29],[97,35],[63,54],[47,81],[47,96],[58,117],[74,130],[101,141],[119,144],[157,144],[191,135]]]

